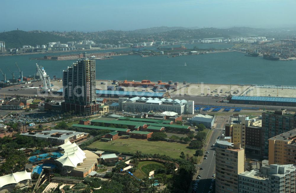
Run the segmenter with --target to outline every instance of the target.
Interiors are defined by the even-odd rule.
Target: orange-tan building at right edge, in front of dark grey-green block
[[[268,139],[269,164],[296,164],[296,130]]]

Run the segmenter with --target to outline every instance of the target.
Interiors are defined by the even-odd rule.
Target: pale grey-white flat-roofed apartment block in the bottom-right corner
[[[239,193],[295,192],[296,165],[271,164],[239,174]]]

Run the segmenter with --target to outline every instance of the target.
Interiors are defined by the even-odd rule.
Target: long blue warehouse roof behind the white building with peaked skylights
[[[118,95],[124,96],[153,96],[153,97],[163,97],[163,93],[159,92],[138,92],[138,91],[108,91],[108,90],[96,90],[96,94],[99,95]]]

